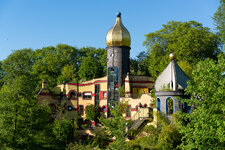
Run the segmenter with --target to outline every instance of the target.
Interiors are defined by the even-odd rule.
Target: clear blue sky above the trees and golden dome
[[[213,30],[218,6],[219,0],[0,0],[0,60],[12,50],[59,43],[105,48],[118,11],[135,57],[146,51],[144,35],[168,21],[195,20]]]

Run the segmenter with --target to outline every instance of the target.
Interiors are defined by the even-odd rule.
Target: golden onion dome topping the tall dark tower
[[[116,17],[116,22],[106,35],[107,46],[128,46],[130,47],[130,33],[121,21],[121,13]]]

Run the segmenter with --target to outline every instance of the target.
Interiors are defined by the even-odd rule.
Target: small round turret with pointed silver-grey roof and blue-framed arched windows
[[[169,55],[170,63],[158,76],[155,82],[155,95],[157,97],[157,110],[170,117],[176,111],[185,108],[185,104],[179,103],[184,98],[184,89],[187,88],[188,76],[175,61],[175,54]]]

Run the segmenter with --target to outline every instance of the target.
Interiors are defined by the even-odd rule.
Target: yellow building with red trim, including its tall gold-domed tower
[[[129,74],[130,43],[130,34],[122,24],[119,13],[106,36],[107,76],[81,83],[62,83],[54,88],[48,88],[47,82],[43,82],[37,96],[39,103],[46,101],[55,108],[63,102],[64,113],[68,116],[74,117],[78,113],[85,118],[89,105],[99,106],[100,111],[110,117],[109,108],[117,101],[126,101],[129,106],[124,112],[126,118],[137,120],[140,113],[142,117],[148,116],[153,104],[151,91],[154,82],[150,76]]]

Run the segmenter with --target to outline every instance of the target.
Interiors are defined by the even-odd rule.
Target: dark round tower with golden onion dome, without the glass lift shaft
[[[106,35],[107,68],[118,69],[118,86],[124,84],[125,77],[130,71],[130,33],[121,21],[121,13]]]

